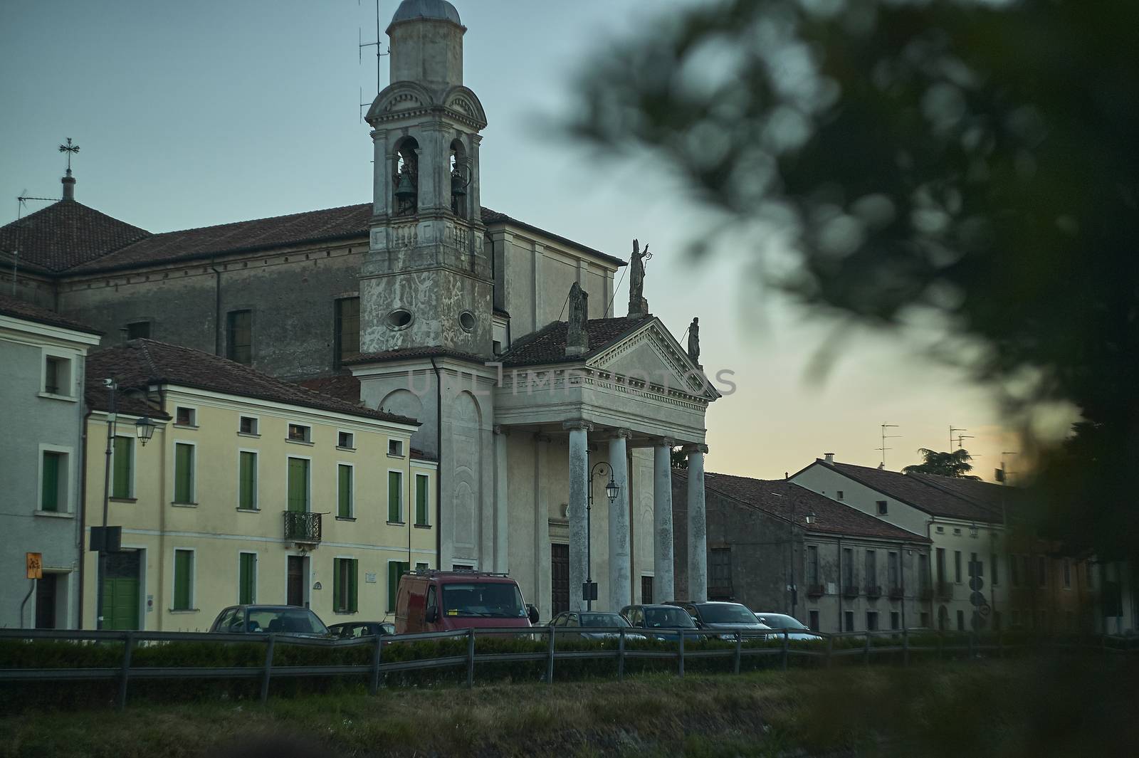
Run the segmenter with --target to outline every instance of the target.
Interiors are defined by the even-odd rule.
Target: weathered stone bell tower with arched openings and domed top
[[[486,115],[462,85],[466,32],[446,0],[403,0],[387,27],[391,84],[367,115],[375,175],[363,353],[491,355],[493,274],[478,197]]]

